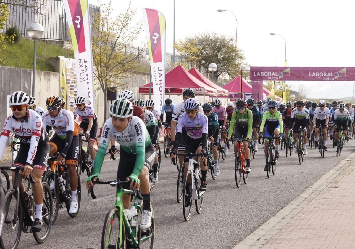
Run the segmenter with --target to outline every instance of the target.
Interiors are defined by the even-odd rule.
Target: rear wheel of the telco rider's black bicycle
[[[52,191],[50,190],[47,182],[42,182],[42,187],[43,187],[42,230],[37,233],[33,233],[33,237],[38,243],[43,243],[47,240],[53,222],[52,221],[53,219]]]

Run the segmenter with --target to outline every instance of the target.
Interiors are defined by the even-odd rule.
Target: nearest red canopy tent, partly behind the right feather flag
[[[154,77],[154,75],[153,75]],[[151,83],[153,84],[153,83]],[[165,93],[169,95],[181,95],[186,88],[193,88],[196,95],[216,95],[216,89],[206,85],[192,76],[181,65],[177,65],[165,74]],[[149,84],[140,86],[140,94],[149,94]],[[153,87],[152,87],[153,93]]]

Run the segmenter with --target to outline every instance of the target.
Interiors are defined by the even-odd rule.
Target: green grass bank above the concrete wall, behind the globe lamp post
[[[65,56],[74,58],[72,50],[64,49],[51,42],[37,41],[36,70],[54,71],[49,64],[49,57]],[[6,44],[5,52],[1,55],[4,60],[0,65],[16,68],[33,68],[33,41],[22,37],[15,44]]]

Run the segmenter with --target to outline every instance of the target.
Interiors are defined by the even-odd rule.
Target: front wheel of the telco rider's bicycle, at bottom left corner
[[[21,238],[23,226],[23,212],[20,203],[17,203],[17,192],[10,189],[5,195],[5,217],[2,225],[2,233],[0,237],[1,249],[15,249]],[[16,207],[18,207],[16,209]],[[16,216],[16,218],[15,218]]]

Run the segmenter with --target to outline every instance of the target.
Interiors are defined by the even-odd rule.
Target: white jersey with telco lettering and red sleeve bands
[[[26,163],[31,165],[37,152],[38,143],[43,143],[45,139],[42,132],[42,118],[34,110],[28,110],[27,117],[23,122],[17,120],[13,115],[8,116],[1,131],[0,159],[11,131],[18,137],[21,144],[30,145]]]

